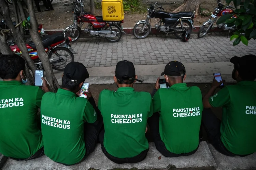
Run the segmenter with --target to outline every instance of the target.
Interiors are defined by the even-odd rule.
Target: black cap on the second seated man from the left
[[[63,76],[72,83],[79,84],[89,78],[89,73],[82,63],[71,62],[65,67]]]

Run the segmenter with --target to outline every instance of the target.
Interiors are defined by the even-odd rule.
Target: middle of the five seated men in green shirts
[[[133,64],[120,61],[114,76],[117,91],[103,90],[99,96],[105,128],[99,135],[101,149],[117,164],[138,163],[148,152],[145,131],[153,113],[152,98],[148,92],[134,91],[137,78]]]

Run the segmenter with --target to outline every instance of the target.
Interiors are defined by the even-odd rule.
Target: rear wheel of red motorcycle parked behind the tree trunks
[[[63,71],[67,64],[74,61],[74,54],[69,49],[67,49],[65,47],[56,47],[56,48],[52,49],[52,51],[50,51],[50,53],[49,53],[49,58],[56,57],[56,54],[53,53],[53,51],[57,52],[59,55],[66,55],[66,57],[67,57],[67,62],[65,64],[62,64],[62,65],[59,65],[56,67],[53,66],[54,70]]]

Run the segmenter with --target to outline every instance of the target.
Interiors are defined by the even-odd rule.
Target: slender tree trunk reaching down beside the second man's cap
[[[49,62],[48,55],[44,51],[44,46],[42,44],[42,40],[38,34],[38,23],[37,19],[35,18],[34,6],[32,0],[24,0],[27,5],[29,15],[30,15],[30,26],[29,33],[31,35],[31,39],[34,42],[35,46],[37,47],[38,56],[40,61],[42,62],[45,70],[45,77],[50,84],[51,91],[57,91],[60,87],[58,81],[53,73],[53,68],[51,63]]]

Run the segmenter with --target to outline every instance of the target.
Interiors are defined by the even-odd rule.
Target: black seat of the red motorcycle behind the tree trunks
[[[64,35],[62,33],[56,33],[53,35],[46,35],[45,37],[42,38],[42,43],[44,48],[47,48],[51,46],[54,43],[58,43],[59,41],[64,40]],[[35,44],[33,42],[28,44],[30,47],[33,49],[36,49]]]

